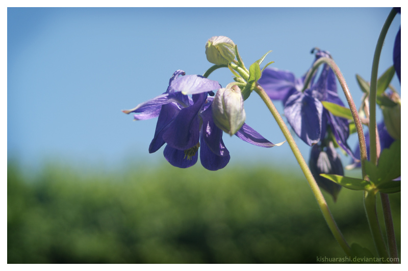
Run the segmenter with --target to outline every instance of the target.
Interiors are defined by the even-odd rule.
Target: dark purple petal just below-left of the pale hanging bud
[[[218,156],[229,156],[230,152],[226,149],[222,141],[222,130],[214,124],[211,105],[207,110],[201,112],[200,116],[202,119],[201,142],[205,141],[206,146],[214,154]]]

